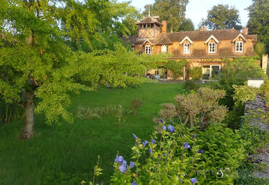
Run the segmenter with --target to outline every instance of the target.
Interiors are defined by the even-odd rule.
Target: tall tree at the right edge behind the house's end
[[[250,34],[258,34],[258,40],[266,45],[266,51],[269,51],[269,1],[253,0],[248,7],[249,17],[248,28]]]

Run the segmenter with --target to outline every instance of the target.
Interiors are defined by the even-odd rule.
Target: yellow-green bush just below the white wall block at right
[[[259,88],[245,86],[232,86],[234,88],[234,106],[244,106],[245,102],[254,100],[255,97],[261,92]]]

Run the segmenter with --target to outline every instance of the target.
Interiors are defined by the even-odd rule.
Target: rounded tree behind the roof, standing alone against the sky
[[[238,10],[234,6],[219,4],[207,12],[205,26],[209,29],[242,29]]]

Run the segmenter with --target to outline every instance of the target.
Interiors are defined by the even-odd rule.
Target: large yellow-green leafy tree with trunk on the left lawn
[[[67,6],[58,8],[58,3]],[[78,45],[79,39],[90,43],[85,31],[98,30],[99,24],[94,14],[87,14],[87,6],[73,0],[1,1],[0,12],[0,99],[23,106],[21,139],[33,136],[35,112],[43,112],[49,124],[60,118],[72,122],[67,111],[71,93],[94,90],[98,84],[142,83],[147,67],[159,58],[138,56],[119,44],[114,51],[72,51],[64,36]]]

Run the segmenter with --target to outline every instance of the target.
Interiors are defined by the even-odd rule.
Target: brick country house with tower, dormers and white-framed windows
[[[202,80],[219,77],[223,58],[256,55],[253,50],[257,35],[248,35],[247,27],[242,32],[235,29],[208,31],[202,26],[200,31],[166,33],[166,21],[159,22],[158,16],[145,17],[136,24],[138,35],[125,38],[134,51],[148,55],[171,54],[168,60],[185,58],[189,61],[189,67],[202,67]],[[160,67],[149,70],[147,77],[173,79],[173,74]],[[186,67],[180,79],[189,79]]]

